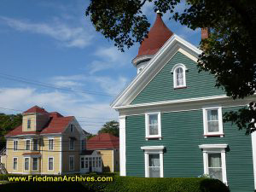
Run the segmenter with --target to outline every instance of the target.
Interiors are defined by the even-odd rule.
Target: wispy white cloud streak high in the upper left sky
[[[66,47],[84,48],[91,43],[93,38],[93,35],[88,32],[88,28],[71,26],[57,19],[52,21],[52,23],[35,23],[28,20],[18,20],[1,16],[0,20],[20,32],[47,35]]]

